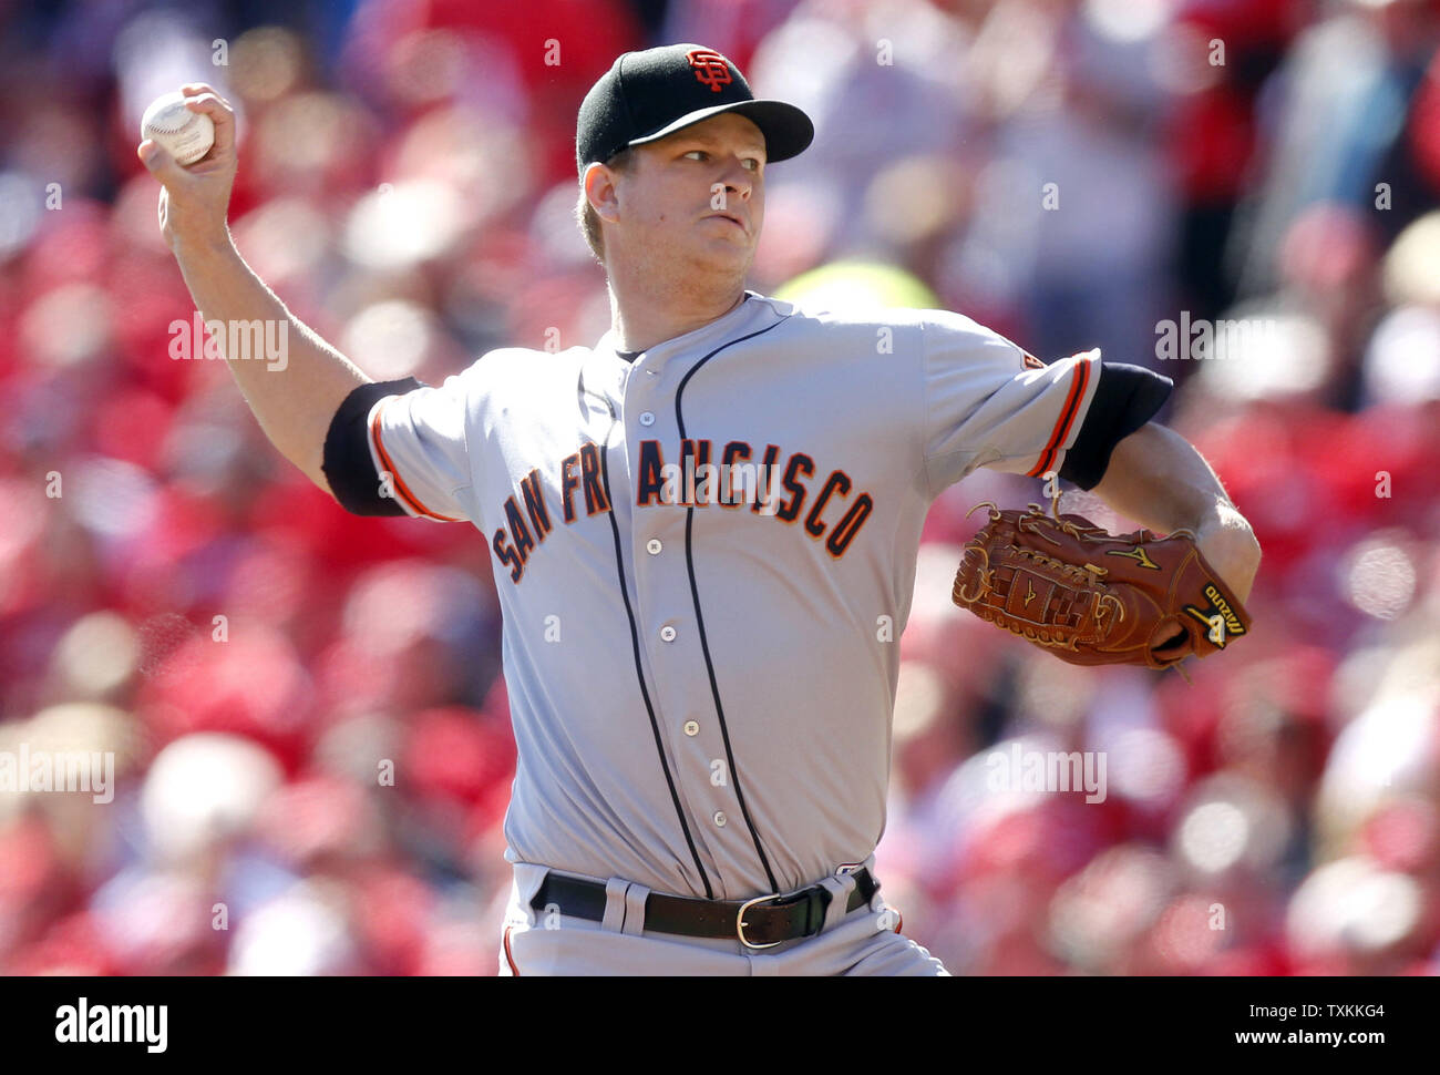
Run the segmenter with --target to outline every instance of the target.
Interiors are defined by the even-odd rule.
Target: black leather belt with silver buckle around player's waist
[[[880,883],[870,876],[870,870],[861,867],[851,876],[855,888],[845,904],[847,914],[868,904],[880,891]],[[691,899],[651,892],[645,896],[645,928],[680,937],[729,937],[747,948],[769,948],[782,941],[818,934],[825,925],[829,899],[829,889],[824,885],[811,885],[783,896],[744,901]],[[547,873],[530,906],[540,911],[552,904],[563,915],[592,922],[605,921],[605,885]]]

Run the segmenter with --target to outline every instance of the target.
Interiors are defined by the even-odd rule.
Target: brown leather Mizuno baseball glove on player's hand
[[[1040,504],[976,507],[989,509],[989,522],[965,546],[955,604],[1061,660],[1169,669],[1250,630],[1189,530],[1112,535]],[[1172,640],[1176,627],[1184,633]]]

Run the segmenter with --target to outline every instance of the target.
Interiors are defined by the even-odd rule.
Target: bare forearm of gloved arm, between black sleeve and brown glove
[[[1260,569],[1260,542],[1194,445],[1149,422],[1110,455],[1094,493],[1120,514],[1162,533],[1195,532],[1211,566],[1246,601]]]

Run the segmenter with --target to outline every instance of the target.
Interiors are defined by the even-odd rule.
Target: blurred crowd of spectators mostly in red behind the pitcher
[[[108,806],[0,791],[0,973],[495,973],[490,550],[346,514],[223,363],[171,360],[138,121],[217,85],[245,258],[370,376],[438,383],[608,329],[575,112],[681,40],[816,124],[753,288],[1172,376],[1266,552],[1192,684],[1076,669],[949,604],[965,512],[1038,483],[936,501],[877,852],[904,932],[965,974],[1440,973],[1440,3],[73,0],[0,32],[0,752],[115,755]],[[1156,346],[1225,320],[1266,331]],[[1015,744],[1103,752],[1104,800],[996,791]]]

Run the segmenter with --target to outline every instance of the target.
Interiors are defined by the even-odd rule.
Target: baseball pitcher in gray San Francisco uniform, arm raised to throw
[[[210,156],[138,151],[204,317],[291,326],[284,370],[229,362],[265,432],[347,510],[468,522],[492,553],[518,746],[503,974],[946,973],[900,932],[874,849],[922,523],[976,467],[1189,527],[1248,594],[1248,525],[1149,422],[1165,378],[1045,365],[942,310],[746,290],[766,171],[814,128],[710,49],[625,53],[580,105],[611,330],[438,386],[372,383],[249,271],[232,110],[184,92]]]

